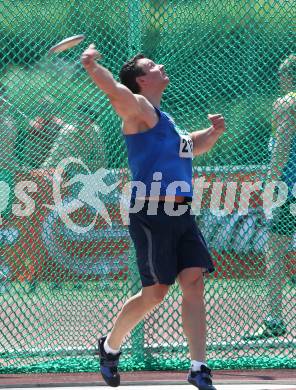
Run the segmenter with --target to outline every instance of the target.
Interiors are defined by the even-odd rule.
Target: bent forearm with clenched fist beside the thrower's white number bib
[[[219,137],[224,133],[225,121],[221,114],[208,115],[212,125],[208,129],[194,131],[190,134],[193,141],[193,154],[198,156],[212,149]]]

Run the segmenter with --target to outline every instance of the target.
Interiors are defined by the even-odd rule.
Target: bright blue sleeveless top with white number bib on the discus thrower
[[[157,108],[155,111],[159,121],[153,128],[124,135],[134,181],[132,198],[192,197],[193,142],[168,114]]]

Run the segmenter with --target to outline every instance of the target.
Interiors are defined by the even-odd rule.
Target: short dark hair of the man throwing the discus
[[[142,58],[146,58],[146,56],[144,56],[144,54],[137,54],[122,66],[119,73],[121,83],[128,87],[133,93],[140,93],[141,91],[136,78],[145,75],[143,69],[138,65],[138,60],[141,60]]]

